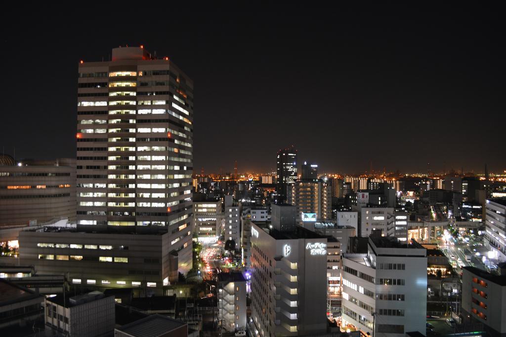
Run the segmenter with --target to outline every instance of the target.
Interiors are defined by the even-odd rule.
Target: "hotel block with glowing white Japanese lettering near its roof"
[[[332,246],[333,247],[333,246]],[[251,319],[256,335],[321,335],[327,319],[327,238],[251,224]]]

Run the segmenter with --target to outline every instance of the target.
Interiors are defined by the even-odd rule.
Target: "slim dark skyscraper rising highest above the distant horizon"
[[[297,180],[297,150],[292,145],[278,151],[276,181],[278,184],[278,202],[286,200],[286,188]]]

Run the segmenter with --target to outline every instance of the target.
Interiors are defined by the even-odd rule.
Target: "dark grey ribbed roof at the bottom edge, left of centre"
[[[133,337],[157,337],[185,325],[186,323],[176,319],[154,314],[118,327],[116,330],[128,333]]]

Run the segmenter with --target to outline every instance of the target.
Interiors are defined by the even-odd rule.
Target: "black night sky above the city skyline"
[[[144,44],[194,80],[196,172],[267,171],[292,143],[331,172],[502,171],[502,11],[440,3],[8,9],[0,146],[75,157],[77,62]]]

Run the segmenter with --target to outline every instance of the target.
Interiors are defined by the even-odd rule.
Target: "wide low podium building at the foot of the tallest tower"
[[[138,295],[162,295],[178,271],[191,268],[191,255],[188,266],[182,251],[168,250],[170,233],[46,230],[20,232],[20,263],[34,265],[40,274],[65,274],[74,285],[133,287]]]

